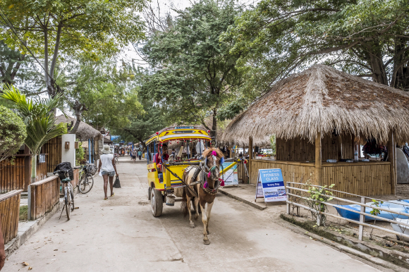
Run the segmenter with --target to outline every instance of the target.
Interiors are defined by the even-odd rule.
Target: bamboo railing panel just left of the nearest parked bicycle
[[[28,218],[36,220],[59,203],[60,180],[58,176],[52,176],[28,187]]]

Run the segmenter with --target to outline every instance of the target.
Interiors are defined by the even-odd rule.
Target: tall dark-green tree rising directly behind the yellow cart
[[[240,52],[231,54],[232,44],[219,39],[241,11],[232,0],[200,0],[177,11],[174,20],[166,17],[141,49],[151,68],[142,78],[143,97],[175,122],[207,128],[204,118],[212,115],[216,136],[218,111],[242,82],[236,69]]]

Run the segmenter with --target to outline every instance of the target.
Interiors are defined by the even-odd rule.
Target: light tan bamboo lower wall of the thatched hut
[[[284,183],[315,182],[314,163],[299,163],[293,161],[251,160],[250,183],[257,183],[259,169],[281,168]],[[334,184],[333,189],[370,196],[377,194],[392,194],[390,163],[322,163],[322,185]],[[336,194],[338,197],[350,197],[347,194]]]

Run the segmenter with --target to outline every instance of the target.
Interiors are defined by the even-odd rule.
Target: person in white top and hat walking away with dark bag
[[[98,172],[102,171],[102,178],[104,179],[104,200],[108,199],[106,193],[108,191],[108,180],[109,188],[111,189],[111,197],[114,197],[114,175],[118,178],[118,171],[116,171],[114,155],[111,154],[111,149],[109,145],[105,144],[104,149],[102,149],[102,156],[99,159]]]

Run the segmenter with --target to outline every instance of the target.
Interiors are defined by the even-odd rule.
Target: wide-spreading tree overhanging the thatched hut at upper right
[[[409,3],[405,0],[264,0],[222,40],[240,67],[263,71],[264,89],[313,63],[409,89]]]

